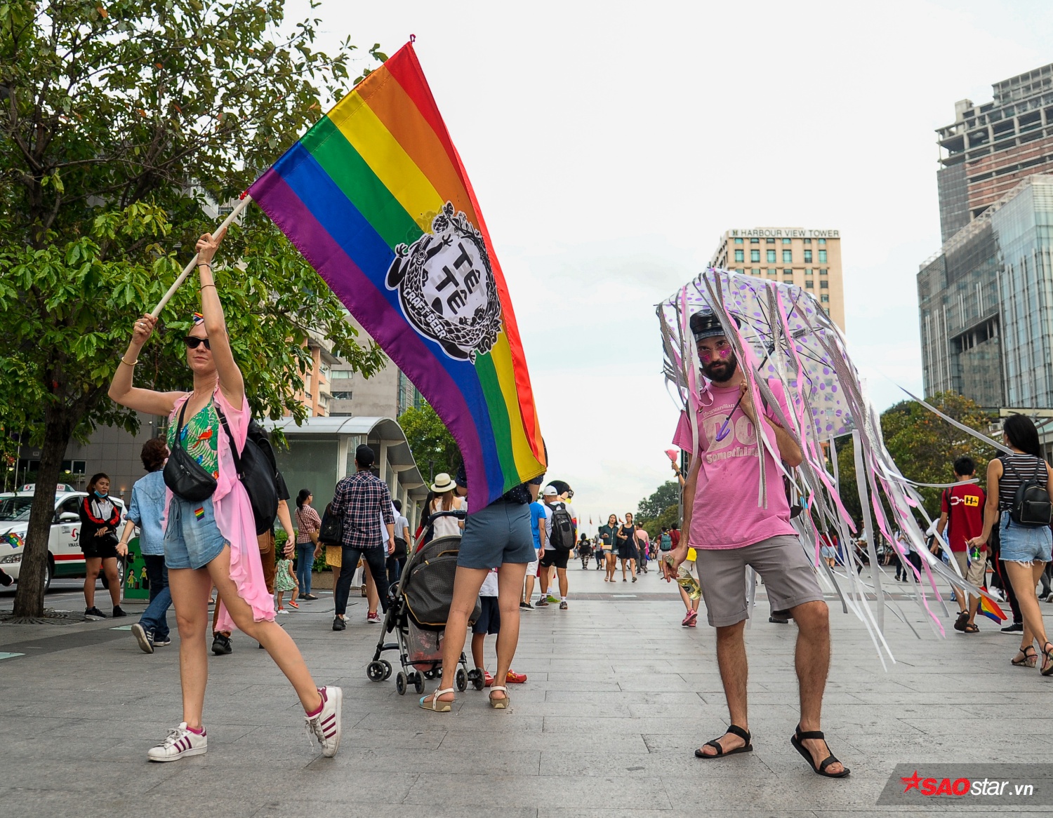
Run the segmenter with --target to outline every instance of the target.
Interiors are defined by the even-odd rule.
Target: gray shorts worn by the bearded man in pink
[[[769,537],[741,548],[697,548],[698,582],[706,616],[714,627],[727,627],[747,618],[746,566],[764,580],[772,611],[788,611],[822,599],[815,568],[792,535]]]

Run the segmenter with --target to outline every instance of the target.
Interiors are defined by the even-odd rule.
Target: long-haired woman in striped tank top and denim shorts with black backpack
[[[988,464],[984,531],[979,537],[969,540],[969,545],[986,545],[991,530],[998,525],[1000,558],[1024,615],[1020,650],[1011,661],[1018,667],[1034,667],[1038,659],[1034,645],[1037,640],[1042,653],[1041,674],[1050,676],[1053,675],[1053,643],[1046,638],[1035,587],[1050,561],[1053,536],[1049,525],[1026,526],[1013,522],[1010,510],[1017,490],[1030,480],[1044,486],[1053,500],[1053,470],[1042,459],[1038,431],[1031,418],[1011,415],[1002,427],[1002,439],[1013,454],[1002,455]]]

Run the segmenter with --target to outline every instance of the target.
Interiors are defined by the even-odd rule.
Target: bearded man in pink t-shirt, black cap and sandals
[[[683,490],[686,536],[673,550],[672,564],[662,562],[667,581],[688,556],[698,554],[696,566],[710,625],[717,630],[717,663],[731,716],[727,733],[695,751],[702,759],[753,750],[747,719],[748,664],[743,632],[748,617],[746,566],[764,581],[773,611],[789,611],[797,622],[795,664],[800,689],[800,722],[791,743],[818,775],[842,778],[848,769],[827,746],[820,732],[822,692],[830,666],[830,612],[816,580],[815,568],[790,524],[790,504],[779,464],[763,448],[768,507],[757,504],[760,465],[757,413],[744,374],[712,312],[691,317],[691,331],[709,383],[702,390],[697,415],[698,445],[687,413],[680,416],[673,442],[691,452]],[[782,384],[768,382],[782,417],[790,417]],[[800,447],[764,407],[761,432],[790,467],[800,464]]]

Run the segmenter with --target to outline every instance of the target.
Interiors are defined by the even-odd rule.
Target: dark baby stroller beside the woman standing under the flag
[[[441,640],[453,600],[460,537],[439,537],[424,542],[439,517],[464,519],[464,512],[436,512],[428,519],[414,553],[392,588],[380,640],[373,661],[365,670],[370,681],[380,682],[391,678],[392,664],[380,657],[384,651],[398,651],[401,670],[395,677],[395,690],[399,696],[404,696],[411,684],[417,693],[423,693],[425,679],[437,679],[442,675]],[[477,601],[469,623],[475,622],[479,615]],[[392,633],[395,634],[395,641],[385,641],[386,635]],[[468,690],[469,682],[477,691],[483,687],[482,673],[477,669],[469,671],[468,660],[461,653],[454,683],[458,691],[463,692]]]

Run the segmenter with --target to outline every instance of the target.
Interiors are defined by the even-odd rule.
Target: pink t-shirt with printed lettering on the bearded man
[[[779,402],[782,416],[789,417],[782,384],[770,380],[768,385]],[[709,392],[702,394],[702,405],[698,410],[701,466],[688,533],[688,544],[694,548],[741,548],[769,537],[797,533],[790,524],[790,504],[782,486],[782,473],[767,450],[768,507],[757,505],[760,484],[757,434],[741,406],[735,410],[728,424],[728,436],[716,440],[717,431],[738,396],[738,386],[721,388],[715,384],[710,384]],[[775,417],[772,410],[764,412]],[[691,452],[691,423],[687,412],[680,413],[673,443]]]

